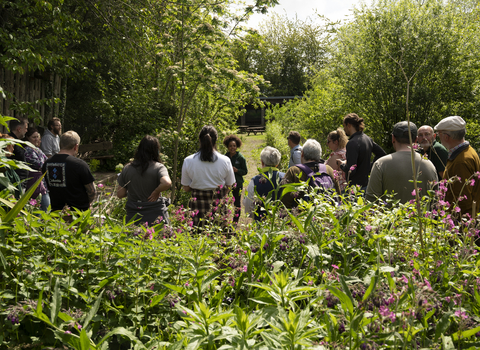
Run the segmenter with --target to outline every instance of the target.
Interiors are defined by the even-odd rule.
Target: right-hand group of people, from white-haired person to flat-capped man
[[[309,139],[302,147],[300,134],[290,132],[287,139],[291,152],[286,173],[278,169],[280,152],[266,147],[260,155],[261,172],[247,187],[243,201],[245,211],[255,220],[262,220],[265,209],[259,197],[265,200],[270,194],[268,200],[281,199],[286,208],[295,207],[301,198],[308,198],[303,191],[285,186],[288,184],[306,182],[310,190],[320,187],[330,194],[333,189],[344,193],[347,185],[356,186],[365,192],[369,201],[384,200],[385,195],[391,195],[394,200],[406,203],[415,199],[416,194],[421,198],[440,180],[450,179],[445,193],[450,208],[457,205],[462,215],[477,215],[480,181],[475,180],[480,178],[480,160],[465,140],[466,123],[461,117],[445,118],[435,126],[440,142],[436,141],[437,135],[431,126],[417,129],[412,122],[395,124],[392,130],[395,152],[389,155],[364,134],[364,129],[363,118],[355,113],[346,115],[343,129],[328,134],[327,146],[331,153],[326,161],[321,158],[322,149],[317,141]],[[284,185],[280,191],[273,191],[280,185]]]

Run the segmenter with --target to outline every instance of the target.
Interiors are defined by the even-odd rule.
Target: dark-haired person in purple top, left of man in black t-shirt
[[[25,141],[29,141],[32,145],[35,146],[30,147],[25,145],[25,161],[28,163],[30,168],[36,170],[33,172],[28,172],[28,180],[26,185],[26,190],[28,190],[42,176],[42,167],[43,163],[45,163],[45,161],[47,160],[47,156],[39,148],[42,140],[36,128],[28,128],[25,134]],[[40,201],[40,209],[46,212],[50,205],[50,196],[47,192],[45,179],[43,179],[42,182],[40,182],[40,184],[37,186],[31,198],[36,199],[40,194],[42,195],[42,199]]]

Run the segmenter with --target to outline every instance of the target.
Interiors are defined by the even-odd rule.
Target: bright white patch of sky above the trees
[[[354,6],[359,6],[362,2],[371,3],[369,0],[280,0],[279,2],[279,5],[269,9],[268,12],[281,15],[286,13],[290,18],[294,18],[297,14],[299,19],[304,20],[314,15],[317,10],[318,14],[324,15],[331,21],[348,20],[352,17],[351,9]],[[247,26],[258,28],[259,23],[267,16],[252,15]]]

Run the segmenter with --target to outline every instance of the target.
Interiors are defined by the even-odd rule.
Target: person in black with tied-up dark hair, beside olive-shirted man
[[[347,143],[347,159],[337,160],[340,169],[346,174],[348,185],[367,188],[368,175],[371,170],[372,153],[375,155],[373,163],[384,155],[385,151],[363,133],[365,124],[363,118],[355,113],[347,114],[343,118],[343,129],[350,139]]]

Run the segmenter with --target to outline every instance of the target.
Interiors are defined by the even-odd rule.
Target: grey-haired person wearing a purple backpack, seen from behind
[[[303,145],[302,164],[297,164],[288,169],[285,174],[285,178],[282,182],[283,184],[298,184],[300,182],[310,181],[309,178],[316,178],[317,176],[324,183],[323,179],[327,180],[323,184],[325,189],[334,187],[338,193],[340,193],[340,188],[338,181],[335,179],[333,169],[329,165],[325,164],[325,161],[322,159],[322,146],[320,143],[313,139],[308,139]],[[302,174],[299,178],[300,173]],[[312,184],[309,183],[311,187]],[[282,202],[287,208],[293,208],[297,206],[298,200],[304,198],[305,193],[299,192],[288,192],[285,193],[282,197]]]

